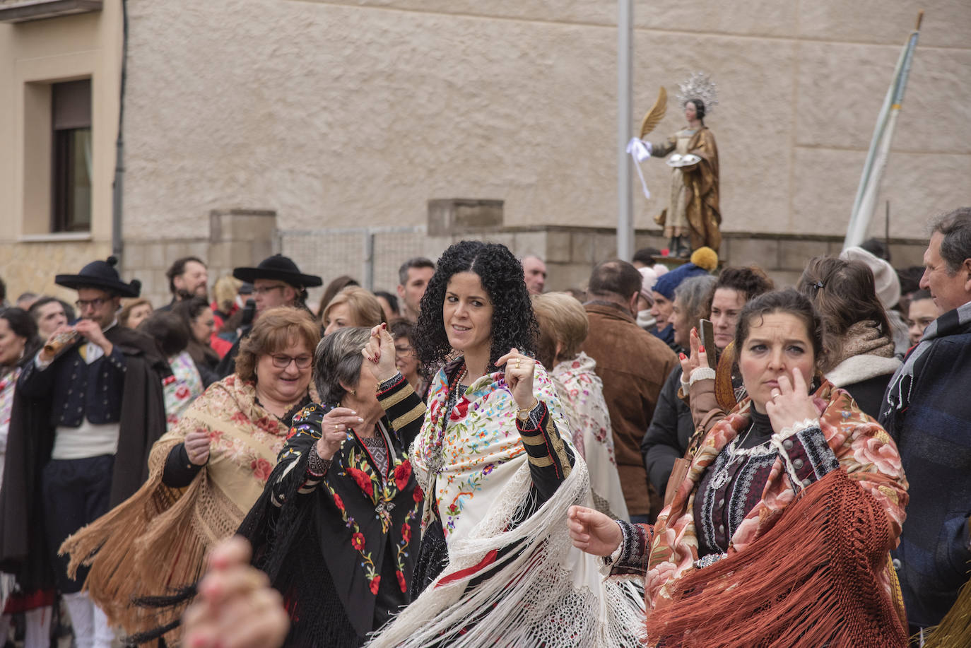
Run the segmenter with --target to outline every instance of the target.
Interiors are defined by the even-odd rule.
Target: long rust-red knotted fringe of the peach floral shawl
[[[892,569],[890,544],[880,504],[843,470],[833,470],[747,551],[674,581],[671,600],[648,616],[649,643],[906,646],[900,616],[882,596],[881,571]]]

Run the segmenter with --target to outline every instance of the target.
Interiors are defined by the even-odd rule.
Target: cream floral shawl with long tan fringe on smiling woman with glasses
[[[184,489],[162,484],[170,451],[196,429],[212,442],[209,462]],[[131,604],[133,597],[171,594],[195,583],[206,552],[239,527],[283,449],[288,428],[256,403],[253,383],[229,376],[185,411],[152,447],[149,479],[114,509],[61,545],[73,575],[91,565],[84,590],[112,625],[134,633],[175,620]]]

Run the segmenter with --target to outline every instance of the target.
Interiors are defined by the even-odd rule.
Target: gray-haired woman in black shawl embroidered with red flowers
[[[240,532],[285,597],[289,646],[358,646],[409,602],[422,493],[407,452],[425,407],[395,369],[386,324],[325,336],[322,404],[294,416]]]

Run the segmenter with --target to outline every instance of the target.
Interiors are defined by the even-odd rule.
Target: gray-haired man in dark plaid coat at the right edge
[[[939,316],[890,380],[880,411],[910,483],[892,553],[907,620],[921,635],[971,575],[971,207],[933,223],[923,264],[921,289]]]

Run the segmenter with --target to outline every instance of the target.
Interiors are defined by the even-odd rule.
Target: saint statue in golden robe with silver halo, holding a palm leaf
[[[705,125],[705,114],[718,104],[718,97],[715,84],[700,72],[679,87],[677,98],[685,109],[686,127],[664,142],[643,142],[667,109],[667,91],[661,87],[657,101],[641,122],[640,139],[654,157],[671,155],[667,159],[671,167],[668,205],[654,222],[664,227],[671,254],[686,257],[702,246],[718,252],[721,244],[719,149],[715,135]]]

